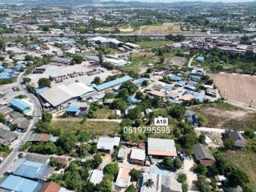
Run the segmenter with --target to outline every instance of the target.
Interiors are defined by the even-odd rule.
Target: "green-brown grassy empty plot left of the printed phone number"
[[[80,118],[74,118],[70,121],[66,119],[58,119],[52,122],[55,128],[59,128],[63,132],[86,130],[94,135],[112,135],[120,130],[118,122],[82,122]]]

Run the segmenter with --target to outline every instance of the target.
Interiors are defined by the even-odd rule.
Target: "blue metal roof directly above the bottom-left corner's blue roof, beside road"
[[[22,176],[24,178],[43,179],[48,170],[49,166],[46,166],[45,164],[25,161],[14,171],[14,175]]]

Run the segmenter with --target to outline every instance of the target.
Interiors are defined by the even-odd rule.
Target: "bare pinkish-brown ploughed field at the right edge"
[[[226,100],[256,106],[256,77],[240,74],[211,74]]]

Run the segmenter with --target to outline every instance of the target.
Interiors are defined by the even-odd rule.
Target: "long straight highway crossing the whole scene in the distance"
[[[241,33],[233,33],[233,34],[188,34],[186,32],[179,33],[184,35],[186,38],[204,38],[204,37],[242,37],[244,34]],[[247,35],[255,35],[256,33],[250,33]],[[174,34],[176,35],[176,34]],[[14,34],[1,34],[2,38],[14,38],[14,37],[38,37],[38,38],[47,38],[47,37],[59,37],[59,34],[35,34],[35,33],[14,33]],[[123,36],[123,37],[150,37],[150,38],[165,38],[166,34],[75,34],[75,33],[65,33],[64,37],[74,38],[74,37],[85,37],[85,38],[92,38],[92,37],[110,37],[110,36]]]

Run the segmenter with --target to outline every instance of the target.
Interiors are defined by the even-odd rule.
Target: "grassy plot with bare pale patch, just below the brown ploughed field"
[[[256,130],[256,113],[231,106],[226,102],[192,107],[202,126],[231,130]]]

